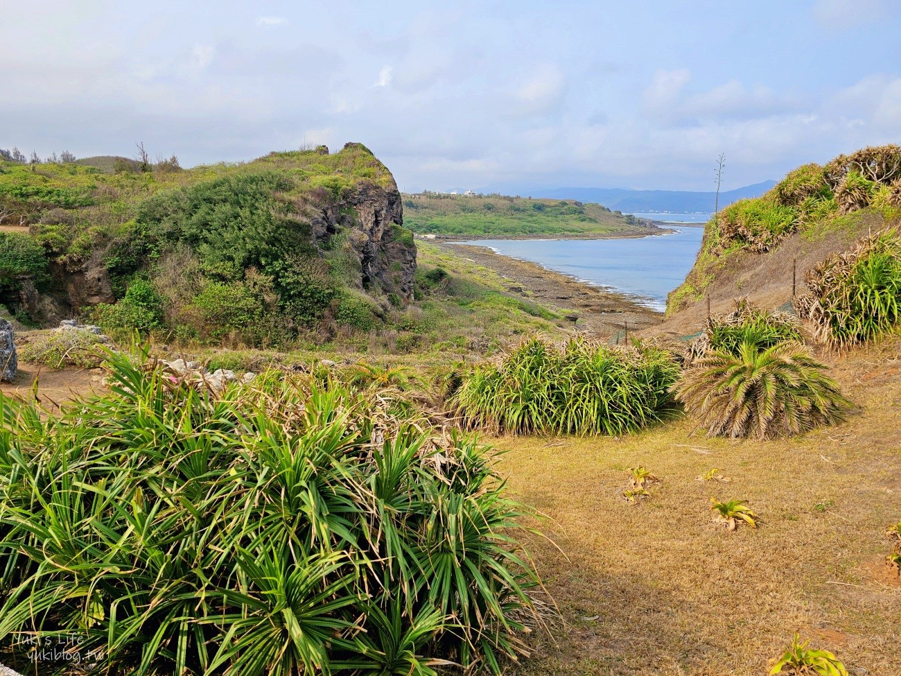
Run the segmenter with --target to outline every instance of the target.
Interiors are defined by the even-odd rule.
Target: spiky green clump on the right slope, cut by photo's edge
[[[890,331],[901,317],[901,235],[895,228],[833,255],[805,278],[795,306],[823,343],[845,349]]]

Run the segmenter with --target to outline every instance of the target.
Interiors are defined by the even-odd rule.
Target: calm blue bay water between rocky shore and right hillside
[[[530,260],[580,281],[635,297],[644,306],[666,309],[667,294],[685,279],[701,248],[703,227],[623,240],[479,240],[504,256]]]

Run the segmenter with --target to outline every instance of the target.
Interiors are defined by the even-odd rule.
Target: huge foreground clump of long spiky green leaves
[[[261,374],[222,395],[110,355],[111,391],[0,399],[0,659],[129,674],[500,671],[538,619],[487,449],[391,397]],[[50,671],[68,662],[46,663]]]

